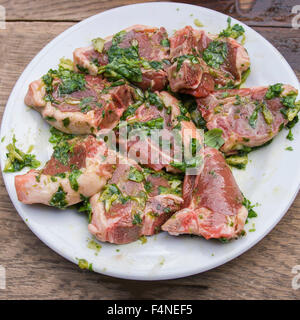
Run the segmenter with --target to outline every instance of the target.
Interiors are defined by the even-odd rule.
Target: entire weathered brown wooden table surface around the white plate
[[[0,0],[0,114],[25,66],[50,40],[78,21],[132,0]],[[300,31],[291,28],[300,1],[186,1],[230,14],[253,27],[284,55],[300,77]],[[300,21],[299,21],[300,23]],[[276,68],[276,66],[274,66]],[[300,196],[276,228],[239,258],[203,274],[170,281],[125,281],[81,271],[44,245],[23,223],[0,178],[1,299],[299,299],[291,269],[300,264]]]

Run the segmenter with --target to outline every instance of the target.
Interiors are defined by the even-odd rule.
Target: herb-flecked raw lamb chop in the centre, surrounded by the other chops
[[[175,97],[165,91],[148,93],[144,104],[124,116],[127,132],[119,131],[119,143],[129,158],[155,171],[202,170],[202,132]]]

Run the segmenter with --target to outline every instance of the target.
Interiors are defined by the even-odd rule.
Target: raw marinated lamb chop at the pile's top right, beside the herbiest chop
[[[235,39],[186,26],[170,38],[168,80],[173,92],[205,97],[215,88],[236,86],[250,66],[245,48]]]

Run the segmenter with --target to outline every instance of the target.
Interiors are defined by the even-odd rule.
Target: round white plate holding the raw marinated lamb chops
[[[168,32],[172,32],[185,25],[194,26],[195,18],[204,24],[205,30],[212,33],[218,33],[226,27],[227,16],[216,11],[179,3],[147,3],[100,13],[76,24],[51,41],[27,66],[8,100],[1,128],[1,137],[6,137],[0,145],[2,168],[5,146],[11,141],[13,133],[18,145],[25,151],[33,144],[38,159],[49,159],[52,153],[48,142],[49,127],[37,112],[24,105],[23,100],[29,83],[48,69],[55,68],[61,57],[72,58],[73,50],[89,45],[91,39],[111,35],[133,24],[164,26]],[[298,80],[282,55],[253,29],[242,25],[246,30],[245,46],[252,68],[246,85],[282,82],[299,89]],[[246,226],[246,230],[251,229],[252,223],[255,223],[256,231],[228,244],[160,233],[148,237],[146,244],[140,241],[121,246],[101,244],[102,249],[96,256],[94,250],[87,248],[91,236],[84,215],[72,210],[23,205],[16,197],[14,174],[4,174],[4,181],[14,206],[29,228],[68,260],[78,263],[76,258],[85,258],[93,263],[96,272],[120,278],[178,278],[215,268],[237,257],[261,240],[283,217],[299,189],[299,125],[294,129],[294,141],[286,140],[286,134],[286,130],[283,130],[271,145],[251,153],[245,171],[234,171],[242,192],[260,206],[256,208],[258,218],[251,219]],[[294,151],[286,151],[287,146],[292,146]]]

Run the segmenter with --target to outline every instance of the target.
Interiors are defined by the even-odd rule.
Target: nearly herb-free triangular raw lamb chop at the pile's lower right
[[[222,154],[210,147],[204,152],[204,170],[198,181],[196,176],[185,177],[184,208],[162,230],[171,235],[194,234],[205,239],[237,237],[248,216],[244,197]]]

